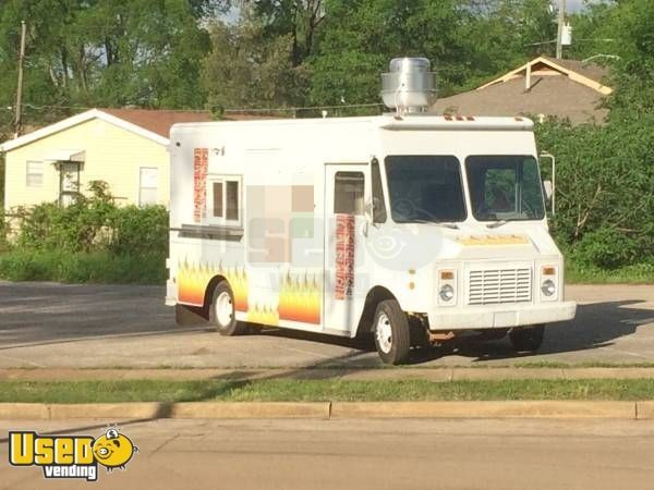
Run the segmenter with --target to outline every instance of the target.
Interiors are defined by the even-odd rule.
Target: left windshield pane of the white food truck
[[[386,176],[397,223],[465,220],[459,160],[451,156],[389,156]]]

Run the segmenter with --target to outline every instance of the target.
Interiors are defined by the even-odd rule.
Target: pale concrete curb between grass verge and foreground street
[[[654,419],[654,401],[0,403],[0,419],[617,418]]]

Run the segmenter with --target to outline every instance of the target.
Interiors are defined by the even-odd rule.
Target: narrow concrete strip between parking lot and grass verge
[[[0,369],[0,381],[80,380],[255,380],[342,379],[358,381],[415,380],[508,380],[508,379],[642,379],[654,378],[654,367],[569,368],[284,368],[284,369]]]

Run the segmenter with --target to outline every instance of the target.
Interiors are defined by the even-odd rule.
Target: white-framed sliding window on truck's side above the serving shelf
[[[207,179],[207,219],[211,224],[241,224],[241,177]]]

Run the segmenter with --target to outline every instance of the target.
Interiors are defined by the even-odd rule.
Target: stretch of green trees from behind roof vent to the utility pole
[[[376,101],[379,72],[404,56],[432,61],[441,96],[472,88],[552,49],[553,20],[543,0],[327,0],[311,98]]]

